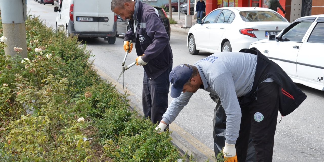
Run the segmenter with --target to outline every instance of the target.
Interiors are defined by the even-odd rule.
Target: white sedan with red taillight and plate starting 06
[[[249,48],[250,43],[277,35],[290,23],[277,12],[260,7],[222,7],[210,12],[189,29],[190,54]]]

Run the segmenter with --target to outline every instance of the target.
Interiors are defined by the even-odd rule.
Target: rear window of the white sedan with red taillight
[[[287,21],[274,11],[241,11],[240,16],[243,21]]]

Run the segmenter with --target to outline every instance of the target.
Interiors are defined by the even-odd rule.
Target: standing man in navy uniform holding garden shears
[[[144,116],[153,123],[161,121],[168,108],[169,73],[172,50],[169,37],[158,11],[140,0],[112,0],[111,10],[122,19],[129,19],[131,30],[124,37],[124,50],[129,41],[136,41],[137,65],[144,68],[142,106]],[[133,44],[130,45],[132,51]]]

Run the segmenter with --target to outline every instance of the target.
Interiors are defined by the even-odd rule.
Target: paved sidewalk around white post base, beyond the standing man
[[[166,13],[168,17],[169,13]],[[179,32],[184,32],[188,33],[190,28],[182,28],[185,24],[185,14],[180,13],[180,19],[179,19],[179,14],[178,12],[172,12],[172,18],[176,20],[178,23],[177,24],[170,24],[171,31],[179,31]],[[196,22],[197,19],[194,19],[194,16],[192,16],[192,26],[197,24]],[[189,25],[189,24],[187,24]]]

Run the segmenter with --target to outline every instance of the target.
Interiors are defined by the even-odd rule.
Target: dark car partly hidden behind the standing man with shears
[[[151,5],[154,8],[157,9],[158,13],[160,14],[165,30],[168,33],[169,36],[169,40],[170,40],[170,35],[171,35],[171,28],[170,28],[170,22],[169,22],[169,18],[167,16],[167,14],[165,13],[164,9],[159,7],[159,6],[155,6],[155,5]],[[128,19],[123,20],[120,16],[117,16],[117,34],[116,37],[119,37],[119,35],[124,36],[125,33],[130,30],[129,24],[128,24]]]

